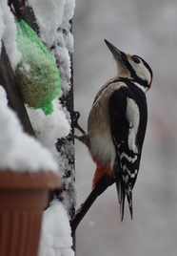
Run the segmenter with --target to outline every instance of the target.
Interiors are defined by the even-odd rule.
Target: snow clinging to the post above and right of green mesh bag
[[[73,53],[73,36],[70,19],[73,16],[74,0],[30,0],[40,37],[56,58],[62,80],[62,90],[66,95],[70,85],[70,53]]]

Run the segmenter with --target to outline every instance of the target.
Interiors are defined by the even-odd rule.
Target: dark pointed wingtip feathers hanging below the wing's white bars
[[[125,188],[125,183],[121,179],[116,181],[116,189],[118,194],[118,201],[120,203],[121,221],[124,220],[124,208],[125,208],[126,195],[128,199],[129,212],[132,220],[132,189],[129,186],[128,188]]]

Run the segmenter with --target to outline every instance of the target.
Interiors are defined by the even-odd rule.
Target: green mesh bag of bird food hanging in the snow
[[[17,47],[22,53],[15,75],[24,103],[49,115],[53,111],[51,101],[59,96],[61,90],[55,59],[24,20],[15,18],[15,23]]]

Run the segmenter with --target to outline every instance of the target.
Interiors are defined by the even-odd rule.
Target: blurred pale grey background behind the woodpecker
[[[133,221],[126,203],[121,223],[116,189],[111,186],[77,229],[77,256],[175,256],[177,1],[76,0],[73,35],[75,110],[81,113],[84,129],[94,96],[116,75],[104,38],[123,52],[143,57],[154,74],[147,92],[147,135],[133,189]],[[89,195],[94,169],[88,150],[76,141],[78,206]]]

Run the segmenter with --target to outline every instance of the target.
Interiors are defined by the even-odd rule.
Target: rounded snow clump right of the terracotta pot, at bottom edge
[[[63,204],[53,200],[43,214],[38,256],[73,256],[69,217]]]

